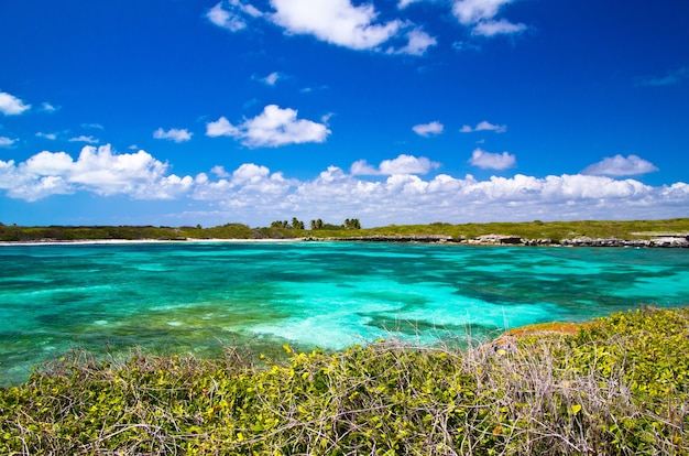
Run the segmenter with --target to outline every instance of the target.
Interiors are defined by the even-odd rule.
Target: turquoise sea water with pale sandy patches
[[[72,348],[212,356],[689,304],[689,250],[365,242],[0,246],[0,384]]]

